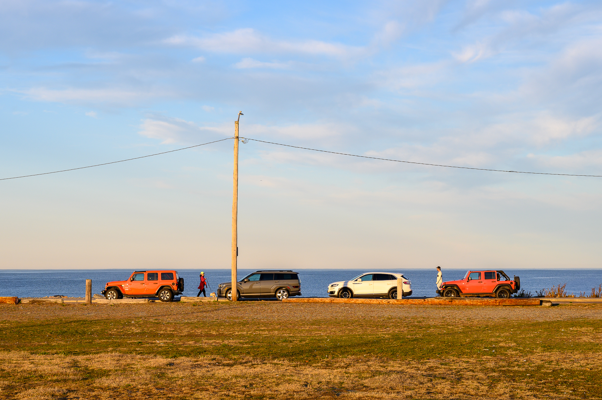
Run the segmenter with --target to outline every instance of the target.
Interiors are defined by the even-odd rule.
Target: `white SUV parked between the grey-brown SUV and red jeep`
[[[397,298],[397,278],[403,279],[403,295],[412,295],[412,282],[396,272],[366,272],[350,280],[328,285],[330,297],[387,297]]]

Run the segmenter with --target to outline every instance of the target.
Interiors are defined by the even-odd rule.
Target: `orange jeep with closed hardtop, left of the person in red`
[[[134,271],[128,280],[108,282],[101,293],[109,300],[123,297],[158,297],[172,301],[184,292],[184,278],[178,271]]]

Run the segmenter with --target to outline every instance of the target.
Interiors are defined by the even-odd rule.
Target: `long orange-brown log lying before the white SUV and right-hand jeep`
[[[288,298],[287,303],[347,303],[347,304],[390,304],[391,306],[539,306],[539,298],[404,298],[388,300],[380,298]]]

